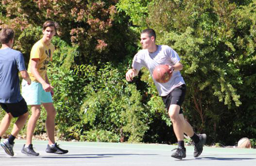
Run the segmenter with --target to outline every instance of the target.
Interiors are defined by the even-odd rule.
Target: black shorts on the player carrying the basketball
[[[185,95],[186,95],[186,85],[183,84],[181,86],[176,87],[167,96],[162,96],[165,104],[165,108],[167,109],[167,111],[169,110],[170,105],[179,105],[180,106],[179,113],[183,113],[181,105],[185,100]]]

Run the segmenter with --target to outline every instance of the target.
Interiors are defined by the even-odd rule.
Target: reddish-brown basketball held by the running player
[[[171,79],[172,73],[170,73],[168,65],[159,65],[153,71],[153,79],[159,83],[166,83]]]

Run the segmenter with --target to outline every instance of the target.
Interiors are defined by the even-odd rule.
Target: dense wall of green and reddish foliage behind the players
[[[174,143],[170,118],[149,72],[125,81],[139,32],[157,33],[182,59],[184,111],[208,143],[255,139],[256,1],[0,0],[0,27],[16,31],[26,63],[45,20],[60,24],[48,75],[57,134],[67,140]],[[2,117],[1,111],[0,117]],[[45,121],[45,113],[40,121]],[[36,133],[45,132],[38,123]]]

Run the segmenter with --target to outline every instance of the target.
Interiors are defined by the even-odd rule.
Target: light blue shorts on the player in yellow
[[[41,105],[41,103],[52,102],[51,92],[43,90],[43,86],[39,82],[31,82],[31,85],[27,84],[27,81],[22,80],[22,97],[27,102],[27,105]]]

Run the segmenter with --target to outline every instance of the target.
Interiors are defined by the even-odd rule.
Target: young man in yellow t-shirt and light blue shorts
[[[43,24],[43,37],[36,44],[33,45],[29,64],[28,74],[31,77],[31,86],[22,81],[22,96],[31,105],[32,115],[28,120],[27,125],[27,141],[24,144],[21,152],[31,156],[37,156],[33,150],[32,137],[36,128],[36,123],[41,113],[41,104],[45,107],[47,112],[46,129],[48,134],[47,153],[65,154],[67,150],[61,149],[55,143],[55,116],[56,110],[53,106],[52,96],[54,94],[47,77],[47,66],[52,60],[52,54],[55,46],[52,45],[51,40],[57,31],[57,23],[47,21]]]

